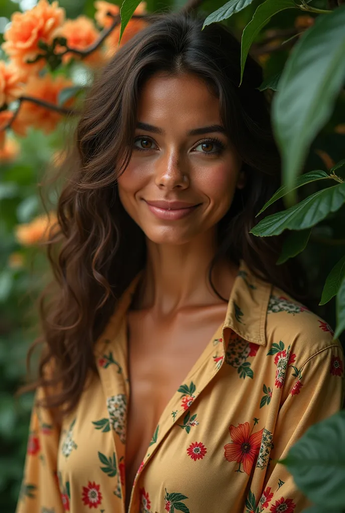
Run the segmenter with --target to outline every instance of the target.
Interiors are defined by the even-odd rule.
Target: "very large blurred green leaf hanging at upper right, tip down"
[[[317,16],[293,47],[272,103],[282,154],[283,182],[291,187],[309,146],[329,119],[345,78],[345,5]]]

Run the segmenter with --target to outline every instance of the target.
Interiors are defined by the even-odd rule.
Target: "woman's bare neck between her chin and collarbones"
[[[186,244],[158,245],[147,240],[146,247],[147,265],[134,308],[150,308],[166,315],[222,301],[208,280],[209,266],[217,250],[215,230]],[[216,263],[212,280],[223,298],[229,297],[237,271],[235,264],[225,260]]]

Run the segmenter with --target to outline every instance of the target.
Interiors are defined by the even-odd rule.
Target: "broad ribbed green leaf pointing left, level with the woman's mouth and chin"
[[[250,233],[260,237],[279,235],[285,229],[304,230],[322,221],[345,202],[345,183],[315,192],[297,205],[262,219]]]

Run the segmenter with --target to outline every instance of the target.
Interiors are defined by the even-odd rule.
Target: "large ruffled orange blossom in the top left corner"
[[[35,73],[44,67],[44,59],[33,64],[27,64],[27,61],[42,53],[37,46],[40,40],[51,44],[54,31],[63,24],[64,19],[65,10],[58,7],[57,2],[49,4],[47,0],[40,0],[28,11],[12,14],[11,26],[4,33],[2,47],[23,75]]]

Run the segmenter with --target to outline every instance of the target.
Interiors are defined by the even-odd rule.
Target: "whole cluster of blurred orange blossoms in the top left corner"
[[[120,8],[104,1],[94,6],[94,19],[84,15],[66,19],[65,9],[56,0],[51,4],[39,0],[32,9],[12,14],[2,44],[7,60],[0,61],[0,161],[17,154],[13,141],[5,137],[6,128],[11,126],[22,136],[29,127],[49,133],[71,108],[71,97],[67,99],[67,95],[63,101],[60,96],[73,85],[68,67],[71,61],[96,68],[117,51]],[[145,13],[146,3],[142,2],[124,30],[120,46],[146,25],[137,17]],[[102,31],[109,33],[103,37]],[[57,68],[59,74],[53,78],[50,72]],[[16,110],[10,105],[15,100],[19,100]]]

